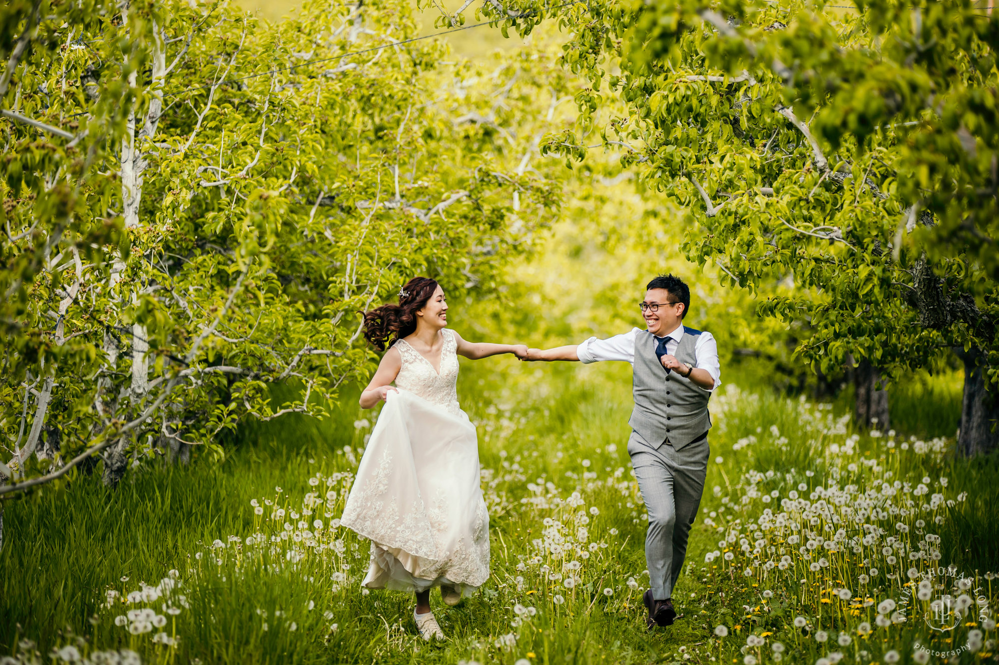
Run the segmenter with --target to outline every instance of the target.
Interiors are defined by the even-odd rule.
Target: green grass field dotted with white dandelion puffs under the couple
[[[494,574],[457,608],[433,596],[444,644],[419,640],[412,597],[359,586],[367,544],[336,518],[374,413],[349,406],[322,423],[247,427],[221,464],[154,464],[114,489],[81,478],[8,503],[0,663],[939,659],[917,643],[995,658],[995,458],[954,459],[950,439],[853,432],[832,404],[727,380],[674,596],[682,617],[649,634],[628,368],[464,367]],[[942,399],[942,385],[927,389]],[[925,391],[906,394],[893,417],[918,426],[924,415],[898,408],[927,409]],[[967,580],[943,571],[920,587],[941,565]],[[972,604],[957,627],[934,630],[924,614],[945,593]]]

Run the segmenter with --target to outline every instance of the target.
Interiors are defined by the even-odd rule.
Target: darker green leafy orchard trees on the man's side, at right
[[[492,17],[526,32],[533,4]],[[958,447],[996,445],[999,15],[957,0],[594,0],[556,13],[572,33],[562,62],[590,84],[580,124],[626,102],[603,146],[690,208],[688,258],[753,291],[793,280],[759,312],[804,322],[797,350],[826,374],[856,358],[862,420],[886,424],[879,372],[956,349]],[[586,152],[571,131],[542,149]]]

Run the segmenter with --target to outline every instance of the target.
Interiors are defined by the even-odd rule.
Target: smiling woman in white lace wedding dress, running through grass
[[[523,344],[471,343],[447,326],[444,290],[429,278],[410,280],[399,305],[365,314],[365,336],[389,350],[361,406],[386,404],[342,518],[372,541],[363,584],[415,592],[414,619],[426,640],[444,639],[431,589],[440,586],[444,602],[457,605],[490,576],[490,516],[476,427],[458,404],[458,354],[527,352]]]

